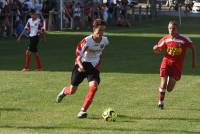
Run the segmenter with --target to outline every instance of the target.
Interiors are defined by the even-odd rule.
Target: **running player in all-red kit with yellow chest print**
[[[172,91],[176,81],[181,79],[183,63],[187,48],[192,50],[192,68],[195,68],[195,48],[192,41],[178,34],[178,24],[170,21],[168,24],[169,34],[160,39],[158,44],[153,47],[156,54],[160,54],[163,49],[166,54],[160,66],[160,87],[158,107],[164,108],[165,91]]]

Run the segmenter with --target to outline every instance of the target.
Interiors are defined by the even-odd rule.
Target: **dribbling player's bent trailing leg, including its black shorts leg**
[[[64,87],[57,95],[56,101],[60,103],[66,95],[72,95],[78,89],[78,85],[84,80],[85,73],[78,71],[78,65],[74,66],[71,75],[71,86]]]

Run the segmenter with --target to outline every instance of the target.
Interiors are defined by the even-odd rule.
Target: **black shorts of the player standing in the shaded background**
[[[28,45],[28,50],[36,53],[38,52],[38,43],[39,43],[39,36],[30,37],[30,44]]]

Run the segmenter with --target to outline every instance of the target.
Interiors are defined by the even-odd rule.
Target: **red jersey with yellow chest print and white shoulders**
[[[161,38],[157,45],[160,49],[166,49],[161,67],[165,68],[170,64],[182,71],[186,49],[192,47],[192,41],[180,34],[176,34],[175,37],[168,34]]]

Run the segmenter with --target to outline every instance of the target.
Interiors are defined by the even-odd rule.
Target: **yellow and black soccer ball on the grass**
[[[105,121],[115,122],[117,119],[117,113],[113,109],[108,108],[103,111],[102,117]]]

